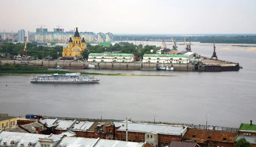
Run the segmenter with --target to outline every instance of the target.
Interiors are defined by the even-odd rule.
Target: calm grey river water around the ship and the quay
[[[211,44],[194,44],[193,52],[211,57]],[[2,75],[0,112],[100,118],[99,109],[103,109],[102,119],[127,116],[153,121],[151,113],[155,112],[156,121],[164,122],[205,124],[204,114],[210,115],[209,125],[239,127],[240,120],[256,122],[256,51],[228,44],[217,44],[216,48],[219,59],[239,62],[244,68],[231,72],[86,70],[177,76],[97,76],[101,78],[99,84],[30,83],[30,76]],[[178,50],[182,51],[183,46]]]

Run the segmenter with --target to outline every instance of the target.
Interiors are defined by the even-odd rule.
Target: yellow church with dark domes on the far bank
[[[78,32],[78,27],[76,26],[76,32],[74,34],[73,40],[70,37],[67,45],[63,47],[62,57],[64,59],[79,59],[83,58],[82,52],[86,49],[86,42],[81,37]]]

